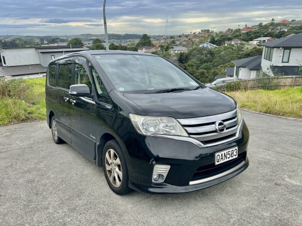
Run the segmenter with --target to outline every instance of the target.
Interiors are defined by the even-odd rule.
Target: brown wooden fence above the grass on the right
[[[226,81],[227,83],[232,83],[234,81]],[[235,82],[240,82],[241,85],[237,85],[244,90],[254,90],[254,89],[282,89],[285,87],[302,86],[302,76],[269,76],[263,78],[252,78],[245,80],[236,80]],[[226,89],[231,84],[226,85]]]

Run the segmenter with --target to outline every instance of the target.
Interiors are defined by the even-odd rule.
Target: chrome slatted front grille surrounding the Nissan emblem
[[[188,135],[201,141],[204,144],[211,144],[230,139],[236,136],[238,128],[237,111],[232,110],[220,115],[207,116],[192,119],[178,119]],[[223,133],[218,133],[215,128],[215,123],[222,121],[226,130]]]

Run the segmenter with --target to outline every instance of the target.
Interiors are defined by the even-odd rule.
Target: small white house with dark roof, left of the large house
[[[233,60],[235,64],[234,76],[241,79],[255,78],[261,69],[262,56],[253,56],[240,60]]]

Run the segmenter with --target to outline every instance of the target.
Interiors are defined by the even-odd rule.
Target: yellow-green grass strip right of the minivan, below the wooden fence
[[[302,118],[302,87],[227,92],[243,108],[277,116]]]

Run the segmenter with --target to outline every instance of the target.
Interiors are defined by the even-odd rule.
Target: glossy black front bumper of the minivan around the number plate
[[[144,193],[180,193],[221,183],[249,166],[248,141],[245,123],[238,139],[205,148],[188,141],[141,136],[132,147],[127,147],[129,186]],[[136,148],[131,152],[133,146]],[[215,166],[215,153],[235,146],[238,147],[238,158]],[[163,183],[152,182],[154,164],[171,166]]]

